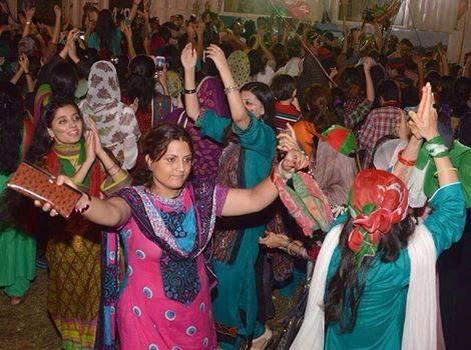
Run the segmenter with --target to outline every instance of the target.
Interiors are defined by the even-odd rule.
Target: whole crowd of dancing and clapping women
[[[37,265],[64,349],[464,348],[471,55],[147,3],[0,27],[11,304]],[[7,190],[22,161],[82,193],[70,219]]]

